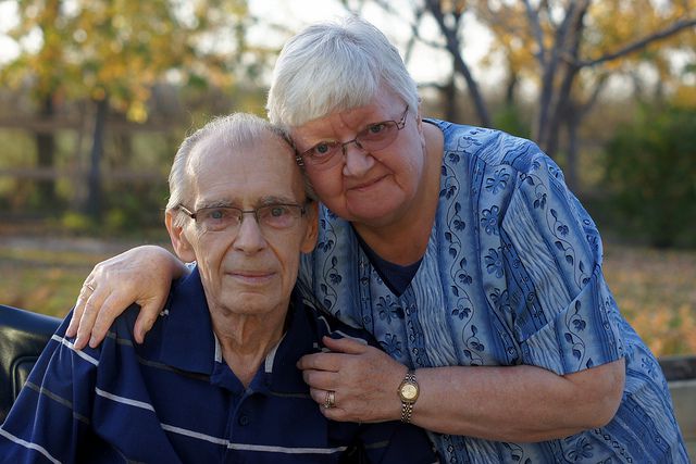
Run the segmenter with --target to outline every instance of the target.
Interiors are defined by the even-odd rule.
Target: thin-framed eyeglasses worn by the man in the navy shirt
[[[253,210],[241,210],[235,206],[201,208],[191,212],[179,204],[178,208],[196,221],[206,231],[237,231],[245,214],[253,214],[262,231],[284,230],[294,227],[307,213],[304,205],[297,203],[264,204]]]

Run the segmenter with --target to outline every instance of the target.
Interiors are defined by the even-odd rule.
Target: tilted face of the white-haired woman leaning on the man
[[[331,113],[291,130],[300,153],[324,142],[348,142],[375,123],[400,122],[406,103],[380,90],[369,105]],[[355,142],[338,150],[334,162],[314,165],[304,159],[319,198],[338,216],[369,227],[396,224],[408,211],[423,181],[425,145],[418,109],[409,108],[402,129],[387,147],[363,150]],[[345,153],[345,154],[344,154]]]

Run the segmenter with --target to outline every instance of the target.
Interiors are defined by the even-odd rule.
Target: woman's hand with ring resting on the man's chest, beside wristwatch
[[[408,368],[380,349],[349,338],[324,337],[323,342],[332,352],[308,354],[297,363],[320,405],[334,392],[335,405],[322,407],[322,413],[340,422],[399,419],[397,389]]]

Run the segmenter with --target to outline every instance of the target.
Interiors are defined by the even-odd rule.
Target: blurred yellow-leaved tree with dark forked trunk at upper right
[[[609,77],[626,72],[636,77],[635,73],[651,68],[660,86],[668,86],[668,80],[675,84],[680,73],[672,73],[671,58],[679,50],[693,52],[696,46],[695,9],[693,0],[523,0],[476,5],[511,73],[539,76],[534,79],[538,102],[532,137],[555,155],[566,129],[566,175],[571,186],[579,177],[580,124]]]

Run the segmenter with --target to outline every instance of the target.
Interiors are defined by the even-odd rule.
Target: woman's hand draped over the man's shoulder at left
[[[113,321],[132,303],[140,305],[134,335],[142,343],[169,296],[172,279],[186,266],[163,248],[142,246],[97,264],[77,297],[65,335],[77,336],[75,349],[97,347]]]

